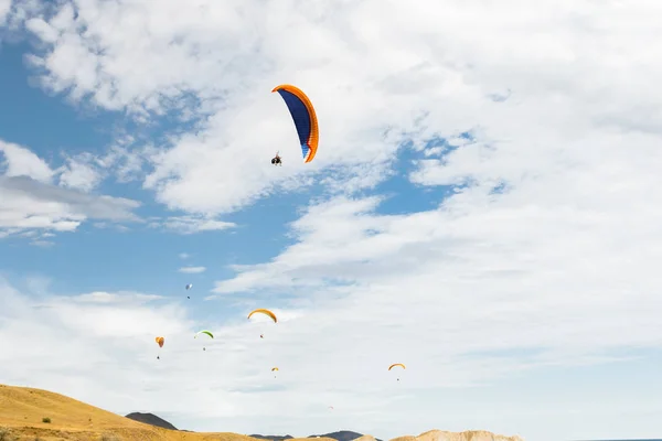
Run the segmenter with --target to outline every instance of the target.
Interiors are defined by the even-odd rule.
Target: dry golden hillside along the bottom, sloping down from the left
[[[43,418],[50,418],[44,422]],[[134,421],[64,395],[0,385],[0,441],[263,441],[238,433],[181,432]],[[310,441],[310,439],[300,439]],[[360,441],[374,441],[364,435]],[[484,431],[433,430],[392,441],[522,441]],[[297,441],[289,440],[289,441]],[[335,441],[319,438],[316,441]]]

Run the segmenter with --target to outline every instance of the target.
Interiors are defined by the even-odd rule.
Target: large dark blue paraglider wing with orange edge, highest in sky
[[[317,115],[312,103],[310,103],[310,99],[308,99],[301,89],[289,84],[281,84],[271,92],[280,94],[292,116],[297,133],[299,135],[303,162],[312,161],[317,153],[320,138]]]

